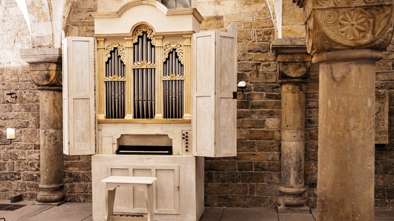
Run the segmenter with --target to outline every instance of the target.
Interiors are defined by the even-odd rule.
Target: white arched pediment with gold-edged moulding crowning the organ
[[[95,34],[130,34],[137,24],[150,24],[156,32],[198,32],[203,18],[195,8],[167,9],[156,0],[132,0],[117,11],[92,13]]]

